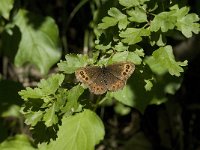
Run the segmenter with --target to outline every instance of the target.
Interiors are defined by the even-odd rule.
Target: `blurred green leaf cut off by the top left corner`
[[[14,5],[14,0],[1,0],[0,16],[3,16],[5,19],[8,20],[13,5]]]

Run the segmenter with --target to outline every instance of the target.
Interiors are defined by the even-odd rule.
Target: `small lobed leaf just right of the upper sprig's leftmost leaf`
[[[130,16],[128,17],[128,19],[131,22],[138,22],[138,23],[147,22],[147,14],[142,8],[136,7],[135,10],[134,9],[127,10],[127,14]]]

